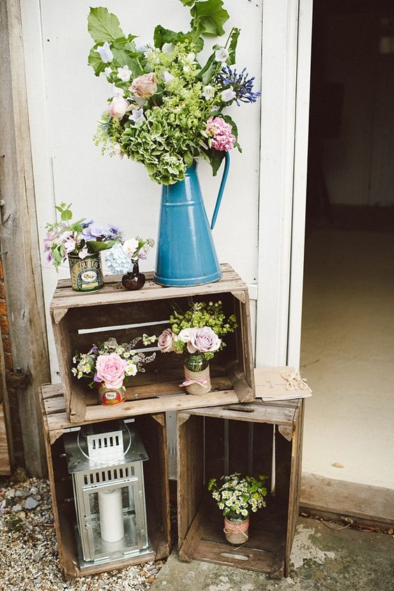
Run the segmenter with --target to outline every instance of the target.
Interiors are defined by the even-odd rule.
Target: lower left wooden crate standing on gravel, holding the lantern
[[[74,427],[66,421],[64,396],[59,385],[41,389],[41,408],[45,433],[54,527],[59,560],[64,578],[75,578],[118,569],[150,560],[167,558],[170,553],[170,498],[168,491],[168,457],[165,414],[136,417],[136,428],[143,440],[149,460],[144,462],[147,529],[153,552],[126,558],[110,564],[97,564],[80,570],[74,525],[76,523],[73,484],[68,474],[63,438],[65,429]]]

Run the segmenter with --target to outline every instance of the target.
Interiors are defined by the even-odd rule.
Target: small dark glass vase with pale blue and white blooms
[[[152,238],[131,238],[113,246],[105,255],[105,264],[112,274],[122,274],[122,285],[126,290],[140,290],[145,285],[145,275],[140,273],[139,261],[147,258],[149,248],[154,246]]]

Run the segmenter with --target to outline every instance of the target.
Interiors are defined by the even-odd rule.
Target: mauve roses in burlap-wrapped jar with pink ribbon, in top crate
[[[235,316],[226,318],[221,301],[194,302],[185,313],[174,311],[170,328],[159,337],[143,335],[145,345],[157,341],[162,353],[184,355],[184,387],[189,394],[211,391],[209,361],[226,346],[223,337],[235,331]]]

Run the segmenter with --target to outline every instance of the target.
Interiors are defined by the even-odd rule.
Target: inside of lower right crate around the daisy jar
[[[275,491],[272,487],[272,440],[275,428]],[[289,513],[291,474],[291,441],[279,433],[277,426],[267,423],[228,420],[190,415],[179,427],[180,494],[178,532],[180,558],[196,558],[219,564],[275,574],[284,564],[286,529]],[[198,466],[185,476],[183,467]],[[242,472],[268,476],[266,507],[251,514],[249,540],[242,548],[226,543],[223,515],[207,493],[207,482],[222,474]],[[193,525],[192,525],[193,524]],[[191,528],[192,525],[192,528]],[[200,532],[197,532],[197,530]],[[185,537],[198,539],[192,554]]]

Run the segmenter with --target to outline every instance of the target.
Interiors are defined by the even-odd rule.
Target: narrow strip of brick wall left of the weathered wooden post
[[[6,381],[8,390],[8,400],[10,403],[10,416],[13,429],[13,444],[15,454],[15,465],[23,465],[23,445],[22,433],[20,428],[19,410],[17,406],[17,391],[10,385],[9,377],[13,375],[13,358],[11,357],[10,348],[10,331],[8,327],[7,306],[6,306],[6,289],[3,277],[3,263],[0,257],[0,329],[1,341],[4,352],[4,362],[6,365]]]

